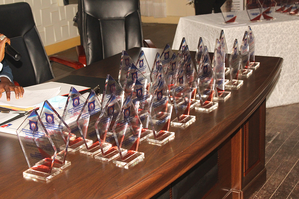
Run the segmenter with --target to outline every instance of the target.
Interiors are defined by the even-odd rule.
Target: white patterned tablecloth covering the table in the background
[[[223,24],[221,13],[181,17],[172,49],[178,49],[186,38],[191,51],[196,51],[199,37],[209,52],[214,52],[216,38],[224,30],[228,52],[235,39],[240,44],[248,25],[255,36],[255,55],[283,58],[278,82],[267,98],[267,108],[299,102],[299,16],[274,13],[275,20],[250,22],[246,11],[238,13],[237,24]]]

